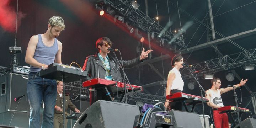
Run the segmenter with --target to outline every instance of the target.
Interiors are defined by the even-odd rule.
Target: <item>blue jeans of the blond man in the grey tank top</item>
[[[53,128],[54,106],[56,103],[56,80],[39,77],[39,73],[29,73],[27,83],[30,104],[29,128],[40,127],[40,106],[44,101],[42,128]]]

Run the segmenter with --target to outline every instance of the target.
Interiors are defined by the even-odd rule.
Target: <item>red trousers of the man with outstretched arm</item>
[[[220,114],[220,111],[213,110],[213,119],[216,128],[228,128],[228,115]]]

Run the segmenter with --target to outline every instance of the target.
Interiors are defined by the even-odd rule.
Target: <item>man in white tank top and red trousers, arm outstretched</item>
[[[235,88],[245,85],[246,80],[241,80],[241,82],[237,85],[234,85]],[[213,108],[213,119],[215,128],[228,128],[228,115],[226,113],[220,114],[218,108],[223,107],[223,102],[221,98],[221,94],[226,93],[230,90],[233,90],[233,87],[220,88],[221,81],[219,78],[213,78],[211,80],[212,88],[206,91],[206,98],[208,98],[209,102],[207,105]]]

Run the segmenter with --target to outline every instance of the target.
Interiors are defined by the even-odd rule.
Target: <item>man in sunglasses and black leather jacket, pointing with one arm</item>
[[[88,73],[88,77],[85,80],[101,78],[122,82],[118,61],[123,64],[124,68],[130,68],[143,62],[143,59],[146,59],[148,54],[153,51],[144,51],[145,49],[143,48],[142,53],[138,58],[128,61],[121,61],[117,60],[116,57],[112,57],[108,54],[110,53],[108,49],[111,48],[111,46],[112,42],[107,37],[101,37],[96,41],[96,48],[98,48],[98,52],[95,55],[90,55],[87,57],[83,66],[83,70],[87,71]],[[106,94],[107,92],[105,89],[91,91],[90,105],[92,105],[92,103],[96,102],[97,100],[111,101],[110,97]]]

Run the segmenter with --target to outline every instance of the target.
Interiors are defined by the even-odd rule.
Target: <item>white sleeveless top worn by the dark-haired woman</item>
[[[175,67],[172,68],[172,70],[169,71],[168,78],[171,74],[171,71],[175,73],[175,79],[172,81],[171,90],[177,89],[183,91],[184,81],[181,78],[180,71],[178,71],[178,69],[176,69]]]

